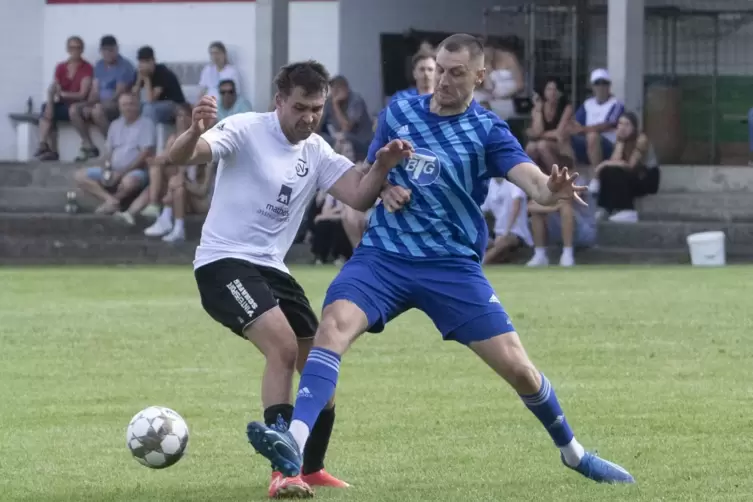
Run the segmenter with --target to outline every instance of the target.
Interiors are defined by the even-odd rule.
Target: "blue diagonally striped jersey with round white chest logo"
[[[476,101],[462,114],[440,116],[429,109],[431,97],[394,101],[379,115],[368,161],[393,139],[409,141],[414,155],[388,181],[412,194],[395,213],[377,205],[361,245],[415,258],[480,260],[489,237],[480,206],[490,178],[531,160],[507,123]]]

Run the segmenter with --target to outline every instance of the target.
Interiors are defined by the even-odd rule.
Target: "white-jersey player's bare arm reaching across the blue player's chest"
[[[379,149],[375,162],[368,170],[358,167],[349,169],[332,185],[329,193],[357,211],[367,211],[379,198],[390,170],[412,153],[413,146],[407,141],[390,141]]]

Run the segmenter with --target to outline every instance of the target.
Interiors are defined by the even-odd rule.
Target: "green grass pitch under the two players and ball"
[[[294,274],[312,303],[335,273]],[[408,313],[344,359],[317,498],[367,501],[753,499],[753,268],[489,272],[576,435],[631,487],[565,469],[495,375]],[[264,500],[261,358],[201,310],[189,268],[0,270],[0,500]],[[191,428],[163,471],[130,457],[148,405]]]

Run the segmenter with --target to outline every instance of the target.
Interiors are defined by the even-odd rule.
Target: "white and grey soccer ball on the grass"
[[[150,406],[136,414],[126,429],[133,457],[152,469],[164,469],[181,459],[188,445],[186,421],[170,408]]]

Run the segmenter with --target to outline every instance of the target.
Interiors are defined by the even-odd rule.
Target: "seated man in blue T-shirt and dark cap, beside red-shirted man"
[[[81,136],[81,152],[76,157],[76,162],[99,157],[89,126],[93,124],[102,136],[107,137],[110,122],[118,118],[118,98],[124,92],[130,92],[136,80],[136,69],[118,52],[115,37],[102,37],[99,52],[102,59],[94,65],[94,82],[89,99],[70,107],[71,124]]]

